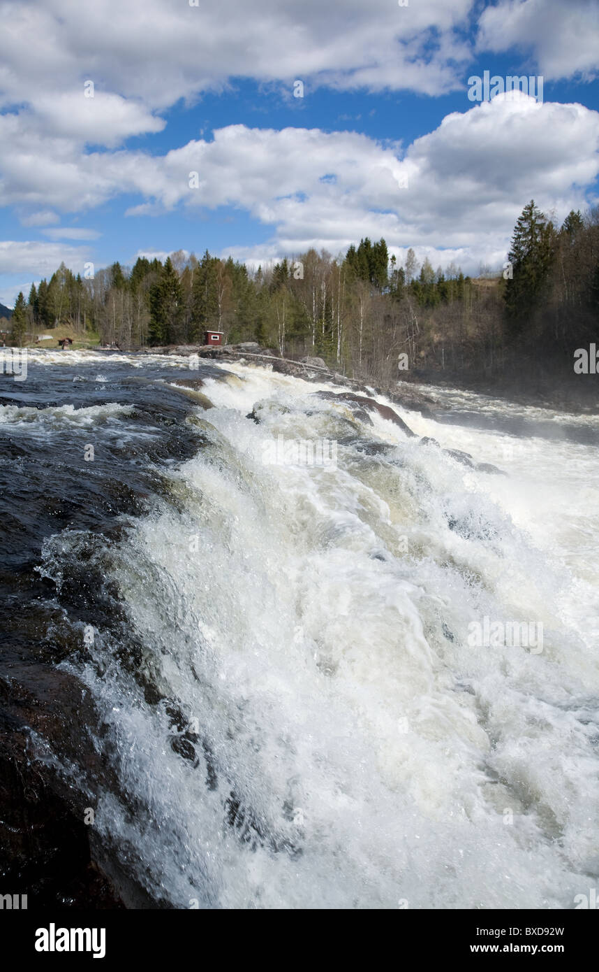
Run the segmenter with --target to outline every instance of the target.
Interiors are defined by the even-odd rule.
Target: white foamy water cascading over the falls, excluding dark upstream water
[[[597,450],[393,406],[509,474],[479,472],[325,384],[227,369],[111,576],[197,765],[96,632],[100,833],[177,908],[573,908],[599,874]],[[265,465],[279,435],[337,468]],[[543,650],[471,646],[485,616]]]

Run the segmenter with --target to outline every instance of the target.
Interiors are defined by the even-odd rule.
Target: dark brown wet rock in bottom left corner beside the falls
[[[121,908],[115,887],[90,850],[83,820],[94,797],[56,770],[41,739],[61,763],[73,760],[87,785],[104,773],[81,722],[96,723],[83,685],[43,665],[5,659],[0,671],[0,872],[27,894],[29,908]],[[39,750],[41,758],[36,758]]]

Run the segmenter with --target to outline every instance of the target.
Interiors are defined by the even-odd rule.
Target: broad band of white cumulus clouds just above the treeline
[[[310,246],[337,254],[369,235],[384,236],[398,253],[409,246],[430,250],[442,264],[458,257],[470,268],[481,261],[497,266],[525,202],[534,197],[561,220],[593,201],[585,190],[599,173],[599,114],[579,104],[537,104],[523,94],[452,113],[405,150],[355,132],[239,124],[164,156],[125,150],[53,156],[50,139],[36,143],[36,156],[31,145],[28,153],[19,149],[15,119],[0,119],[0,133],[3,124],[16,127],[10,150],[0,139],[0,162],[4,153],[23,153],[9,166],[5,198],[76,209],[136,193],[143,202],[129,210],[133,217],[234,207],[272,228],[258,250],[230,251],[260,260]],[[32,186],[23,173],[36,170],[36,157],[50,162],[44,185]],[[86,231],[46,232],[83,239]]]

